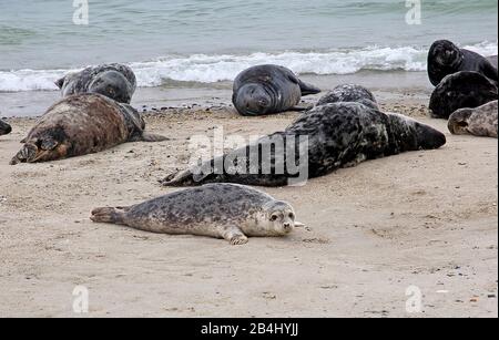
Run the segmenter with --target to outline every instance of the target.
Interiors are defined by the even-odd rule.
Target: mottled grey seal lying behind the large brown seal
[[[98,93],[130,104],[136,89],[132,69],[122,64],[90,66],[77,73],[69,73],[55,82],[62,96],[80,93]]]

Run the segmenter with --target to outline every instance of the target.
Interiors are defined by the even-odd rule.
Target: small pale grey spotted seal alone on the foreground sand
[[[96,208],[90,218],[151,233],[224,238],[231,245],[246,244],[247,237],[285,236],[303,226],[289,204],[234,184],[189,188],[130,207]]]

